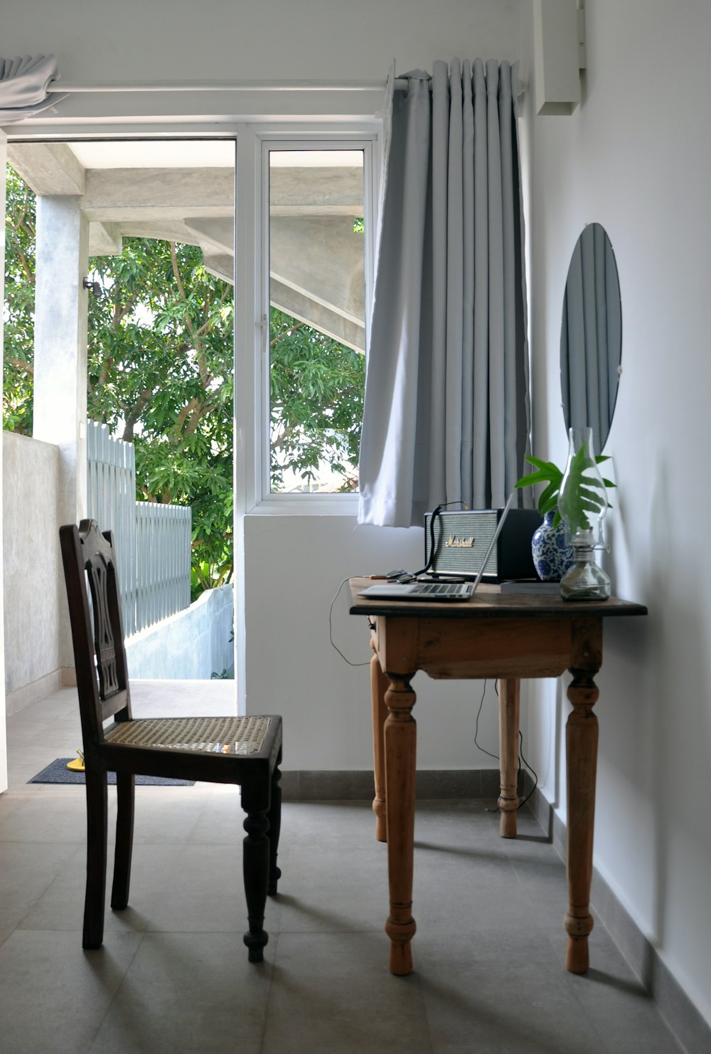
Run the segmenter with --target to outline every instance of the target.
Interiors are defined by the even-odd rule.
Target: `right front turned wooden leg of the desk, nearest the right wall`
[[[566,969],[573,974],[584,974],[590,965],[588,936],[593,928],[590,883],[597,768],[597,718],[593,706],[598,690],[590,671],[573,669],[571,672],[573,680],[568,699],[573,709],[566,725],[569,901]]]

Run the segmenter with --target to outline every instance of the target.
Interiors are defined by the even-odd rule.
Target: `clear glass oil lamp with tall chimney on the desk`
[[[558,509],[574,563],[560,580],[560,596],[564,600],[607,600],[612,583],[595,563],[595,549],[603,546],[607,487],[595,460],[592,428],[571,428],[568,436],[568,463]]]

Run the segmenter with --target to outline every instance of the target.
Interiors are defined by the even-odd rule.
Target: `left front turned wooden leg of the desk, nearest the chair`
[[[386,742],[386,800],[388,822],[388,878],[390,916],[390,972],[412,972],[410,941],[415,935],[412,917],[412,875],[415,842],[415,754],[417,726],[412,716],[413,675],[388,675]]]

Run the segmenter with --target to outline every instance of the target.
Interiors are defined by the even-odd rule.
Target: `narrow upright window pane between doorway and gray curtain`
[[[363,275],[362,150],[271,151],[272,492],[357,490]]]

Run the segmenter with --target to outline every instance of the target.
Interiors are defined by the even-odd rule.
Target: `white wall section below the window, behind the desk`
[[[424,563],[423,531],[357,526],[353,516],[245,521],[246,698],[250,713],[282,714],[284,769],[372,767],[370,674],[331,646],[329,612],[343,579]],[[348,585],[333,605],[333,640],[351,662],[370,662],[368,623],[348,613]],[[413,681],[420,768],[491,768],[474,746],[479,681]],[[490,682],[479,742],[496,750]]]

